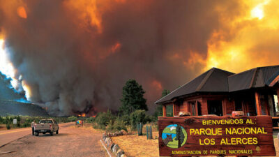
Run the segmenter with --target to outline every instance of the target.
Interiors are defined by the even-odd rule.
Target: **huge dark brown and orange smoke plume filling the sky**
[[[227,59],[226,47],[239,45],[247,55],[269,51],[267,58],[278,50],[269,47],[271,40],[252,40],[247,47],[237,43],[259,29],[253,25],[257,18],[244,18],[255,5],[240,1],[0,3],[0,33],[15,78],[27,98],[52,115],[116,110],[130,78],[143,85],[153,110],[163,89],[172,90],[210,66],[223,68],[227,62],[225,69],[243,70],[218,60]],[[272,30],[261,33],[266,31]]]

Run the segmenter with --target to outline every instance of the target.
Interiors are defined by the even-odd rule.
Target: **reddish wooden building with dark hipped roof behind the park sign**
[[[211,68],[156,104],[163,105],[164,117],[166,105],[172,105],[174,116],[180,111],[223,116],[242,110],[248,116],[276,117],[278,97],[279,66],[253,68],[237,74]]]

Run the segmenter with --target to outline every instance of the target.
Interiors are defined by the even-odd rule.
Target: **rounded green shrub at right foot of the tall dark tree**
[[[130,125],[133,130],[137,128],[137,124],[146,124],[146,114],[145,110],[135,110],[132,114],[130,114]]]

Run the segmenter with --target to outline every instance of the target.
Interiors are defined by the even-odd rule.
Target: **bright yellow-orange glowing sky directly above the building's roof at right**
[[[204,70],[212,67],[239,73],[257,66],[278,64],[279,1],[246,1],[247,10],[234,17],[220,12],[221,29],[211,33]],[[274,15],[275,14],[275,15]],[[229,19],[229,20],[227,20]],[[274,50],[273,48],[274,47]]]

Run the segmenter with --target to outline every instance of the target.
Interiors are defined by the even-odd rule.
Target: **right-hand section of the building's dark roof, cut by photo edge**
[[[241,91],[268,86],[279,75],[279,66],[253,68],[229,76],[229,91]]]

